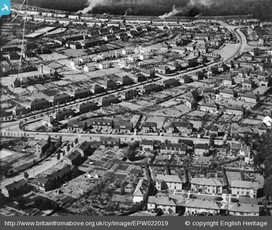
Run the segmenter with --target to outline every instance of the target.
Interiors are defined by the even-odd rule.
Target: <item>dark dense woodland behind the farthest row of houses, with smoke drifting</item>
[[[23,0],[12,0],[22,3]],[[191,4],[190,2],[196,2]],[[261,20],[272,19],[272,0],[209,0],[206,5],[197,0],[101,0],[92,13],[159,16],[171,12],[173,6],[177,16],[222,16],[253,14]],[[209,3],[209,4],[208,4]],[[28,0],[29,5],[55,10],[78,11],[88,6],[87,0]]]

